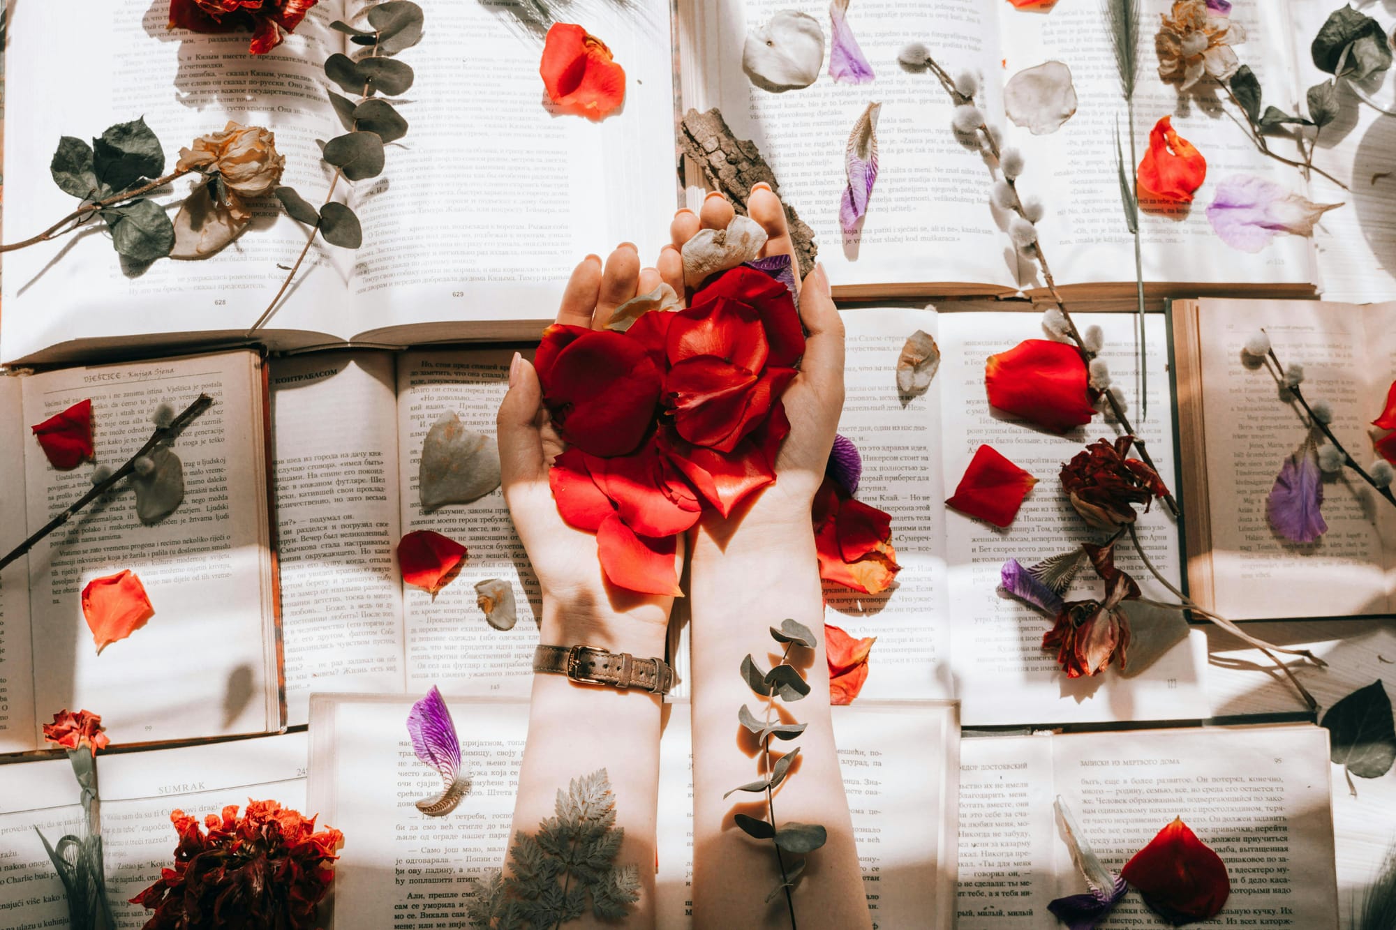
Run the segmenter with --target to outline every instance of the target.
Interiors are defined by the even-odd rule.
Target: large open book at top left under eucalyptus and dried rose
[[[99,135],[142,115],[168,170],[180,147],[228,120],[265,126],[286,156],[283,183],[318,205],[329,172],[315,140],[343,131],[322,64],[359,49],[329,22],[359,22],[370,6],[321,0],[282,46],[254,57],[244,34],[169,29],[165,3],[14,4],[4,240],[77,207],[49,180],[60,135]],[[258,334],[275,348],[532,337],[582,256],[634,242],[653,261],[669,242],[678,193],[666,0],[588,6],[585,27],[627,74],[624,110],[602,123],[549,112],[542,32],[522,18],[528,4],[420,6],[423,39],[398,56],[416,73],[402,105],[408,135],[388,147],[381,176],[338,186],[364,244],[317,242]],[[53,53],[54,36],[96,57],[74,68]],[[92,68],[102,81],[87,80]],[[162,202],[181,200],[190,180],[172,187]],[[105,232],[8,253],[0,360],[242,339],[286,276],[278,265],[295,261],[306,236],[268,198],[237,242],[204,261],[161,260],[127,274]]]

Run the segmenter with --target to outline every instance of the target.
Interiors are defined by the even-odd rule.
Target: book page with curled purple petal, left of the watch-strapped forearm
[[[436,797],[441,775],[412,753],[415,700],[311,698],[309,804],[345,834],[332,930],[465,926],[476,883],[504,866],[528,702],[447,698],[470,789],[451,814],[427,817],[415,802]]]

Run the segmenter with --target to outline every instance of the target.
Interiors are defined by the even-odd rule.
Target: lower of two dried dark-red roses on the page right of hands
[[[1115,658],[1125,667],[1129,647],[1129,617],[1120,607],[1124,600],[1139,599],[1139,585],[1115,568],[1114,545],[1083,549],[1096,574],[1106,582],[1104,600],[1068,600],[1057,623],[1043,635],[1044,649],[1057,649],[1057,662],[1068,679],[1099,674]]]

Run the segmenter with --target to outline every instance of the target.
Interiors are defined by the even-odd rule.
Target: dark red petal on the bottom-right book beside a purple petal
[[[1143,894],[1145,903],[1173,923],[1213,917],[1231,894],[1226,863],[1181,817],[1136,852],[1120,876]]]

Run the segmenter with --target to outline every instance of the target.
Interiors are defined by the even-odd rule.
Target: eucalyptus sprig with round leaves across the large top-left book
[[[384,98],[402,96],[412,88],[415,80],[412,67],[392,56],[422,40],[422,7],[416,3],[388,0],[369,10],[369,28],[359,28],[342,20],[329,24],[332,29],[348,35],[355,45],[364,46],[367,53],[353,59],[336,52],[325,59],[325,77],[345,94],[353,95],[343,96],[328,91],[329,102],[346,130],[343,135],[336,135],[322,145],[321,158],[335,169],[335,173],[320,209],[293,187],[276,189],[276,200],[292,219],[310,226],[310,236],[276,296],[247,331],[248,335],[257,332],[276,311],[317,236],[341,249],[357,249],[363,244],[359,216],[348,204],[334,200],[335,190],[341,180],[357,182],[381,175],[387,161],[384,147],[408,134],[408,120]]]

